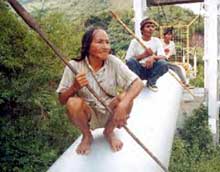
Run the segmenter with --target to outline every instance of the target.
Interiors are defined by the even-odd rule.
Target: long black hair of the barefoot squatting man
[[[89,56],[89,48],[92,43],[94,32],[99,29],[102,29],[102,28],[92,27],[84,33],[84,35],[82,37],[82,42],[81,42],[80,57],[75,59],[76,61],[81,61],[81,60],[85,59],[86,56],[87,57]]]

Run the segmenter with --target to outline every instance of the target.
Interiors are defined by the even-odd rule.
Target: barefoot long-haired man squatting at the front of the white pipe
[[[110,52],[107,33],[101,28],[88,30],[82,38],[80,57],[69,62],[78,74],[66,67],[57,89],[69,119],[83,135],[76,149],[78,154],[90,152],[91,129],[96,128],[104,128],[103,134],[113,151],[121,150],[123,143],[114,129],[126,125],[133,100],[143,88],[138,76]],[[112,114],[88,91],[88,84],[109,105]],[[123,92],[117,94],[118,88]]]

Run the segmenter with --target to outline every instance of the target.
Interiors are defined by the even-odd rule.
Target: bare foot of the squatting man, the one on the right
[[[108,134],[104,132],[104,135],[114,152],[120,151],[122,149],[123,143],[116,137],[114,132]]]

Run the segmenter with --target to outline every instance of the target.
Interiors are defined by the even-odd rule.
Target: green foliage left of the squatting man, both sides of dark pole
[[[79,134],[56,102],[63,64],[2,1],[0,8],[0,171],[46,171]],[[61,51],[78,55],[81,27],[62,14],[40,24]]]

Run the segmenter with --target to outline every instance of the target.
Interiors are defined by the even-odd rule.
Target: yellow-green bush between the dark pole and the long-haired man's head
[[[41,25],[50,40],[61,52],[65,52],[67,59],[79,55],[81,38],[84,33],[82,21],[71,22],[65,18],[63,13],[52,13],[41,19]]]

